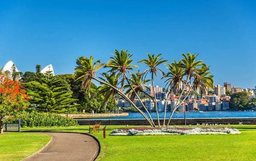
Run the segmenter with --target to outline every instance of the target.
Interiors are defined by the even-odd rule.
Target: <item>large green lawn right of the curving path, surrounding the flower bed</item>
[[[230,125],[239,129],[239,135],[203,136],[109,136],[111,130],[125,126],[107,126],[106,138],[103,132],[92,134],[101,144],[101,161],[215,161],[255,160],[256,126]],[[103,126],[102,126],[103,127]],[[131,126],[129,126],[131,127]],[[88,132],[88,126],[69,128],[40,128],[41,131]],[[23,131],[39,128],[26,128]]]

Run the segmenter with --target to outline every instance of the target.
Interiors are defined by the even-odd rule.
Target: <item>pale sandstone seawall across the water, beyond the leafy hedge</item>
[[[67,116],[67,114],[60,114],[60,115]],[[68,117],[76,117],[76,118],[117,117],[117,116],[129,116],[129,113],[68,114]]]

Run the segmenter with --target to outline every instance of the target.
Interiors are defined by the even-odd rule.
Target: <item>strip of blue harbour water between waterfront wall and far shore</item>
[[[156,113],[150,113],[153,119],[157,119]],[[171,113],[166,113],[169,118]],[[160,119],[163,119],[164,113],[159,113]],[[228,111],[228,112],[186,112],[186,118],[236,118],[236,117],[256,117],[256,111]],[[174,113],[172,118],[184,118],[184,113]],[[97,118],[79,118],[79,119],[144,119],[141,113],[129,113],[129,116],[118,117],[97,117]]]

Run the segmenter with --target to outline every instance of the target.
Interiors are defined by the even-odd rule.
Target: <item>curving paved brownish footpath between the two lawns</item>
[[[52,141],[27,161],[93,161],[99,150],[90,136],[79,133],[45,133]]]

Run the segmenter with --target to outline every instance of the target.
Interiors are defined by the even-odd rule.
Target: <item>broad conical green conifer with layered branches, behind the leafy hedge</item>
[[[38,111],[50,112],[50,113],[66,113],[76,111],[76,104],[78,99],[73,99],[72,93],[65,90],[66,87],[56,87],[60,78],[53,76],[51,71],[47,71],[41,79],[41,84],[38,82],[30,82],[35,85],[32,92],[29,92],[31,96],[31,103],[35,104],[35,108]]]

